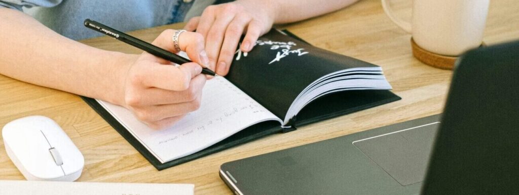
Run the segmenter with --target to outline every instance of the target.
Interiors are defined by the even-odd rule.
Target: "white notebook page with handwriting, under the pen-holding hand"
[[[253,124],[281,119],[225,78],[206,82],[200,109],[166,130],[141,123],[124,107],[97,100],[160,162],[196,153]]]

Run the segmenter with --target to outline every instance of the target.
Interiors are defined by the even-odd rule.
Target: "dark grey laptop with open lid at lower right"
[[[443,114],[224,163],[236,194],[518,193],[519,41],[458,59]]]

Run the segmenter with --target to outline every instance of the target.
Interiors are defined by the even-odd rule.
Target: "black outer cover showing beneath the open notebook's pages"
[[[290,32],[284,31],[286,34],[301,40]],[[301,40],[303,41],[303,40]],[[231,74],[231,73],[229,73]],[[303,110],[297,114],[297,118],[293,118],[292,128],[283,129],[277,121],[267,121],[245,128],[233,136],[230,136],[208,148],[203,149],[192,155],[188,155],[179,159],[161,163],[151,152],[148,151],[132,134],[123,127],[108,111],[106,111],[95,99],[81,97],[89,104],[98,114],[100,114],[108,124],[110,124],[117,132],[121,134],[137,151],[139,151],[157,170],[163,170],[177,164],[188,162],[203,156],[207,156],[216,152],[223,151],[242,143],[262,138],[269,134],[288,132],[297,129],[297,127],[323,121],[324,119],[349,114],[352,112],[372,108],[381,104],[400,100],[401,98],[387,90],[357,90],[344,91],[329,94],[320,97],[309,103]]]

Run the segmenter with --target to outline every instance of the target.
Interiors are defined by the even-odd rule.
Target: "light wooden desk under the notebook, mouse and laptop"
[[[487,44],[519,38],[519,6],[514,0],[490,2],[484,41]],[[411,14],[411,1],[398,0],[394,9]],[[153,40],[160,26],[130,33]],[[302,144],[442,112],[451,71],[418,62],[411,54],[410,35],[384,14],[378,0],[364,0],[325,16],[286,25],[294,34],[315,46],[380,65],[403,99],[384,106],[308,125],[286,134],[276,134],[179,166],[157,171],[119,133],[78,96],[0,76],[0,127],[28,115],[53,118],[85,156],[79,181],[125,183],[194,183],[197,194],[231,193],[218,177],[224,162],[278,151]],[[90,46],[140,53],[114,39],[82,41]],[[0,179],[24,179],[9,160],[0,139]]]

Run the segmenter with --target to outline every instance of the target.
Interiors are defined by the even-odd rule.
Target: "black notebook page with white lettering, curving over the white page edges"
[[[256,46],[247,55],[238,52],[225,78],[283,120],[289,109],[294,106],[294,100],[297,97],[302,98],[300,95],[312,83],[319,83],[316,81],[324,78],[327,79],[321,80],[321,84],[325,83],[325,80],[338,78],[340,80],[331,84],[339,81],[356,82],[354,79],[346,79],[344,74],[337,76],[337,72],[345,69],[363,70],[363,73],[344,73],[351,77],[359,74],[379,74],[380,67],[313,47],[307,42],[290,38],[272,29],[258,38]],[[368,82],[365,84],[372,86]],[[347,89],[346,86],[340,85],[340,88],[343,87]],[[299,103],[303,102],[306,101]],[[297,110],[295,106],[292,109]],[[291,118],[290,115],[286,117]]]

